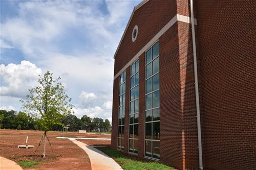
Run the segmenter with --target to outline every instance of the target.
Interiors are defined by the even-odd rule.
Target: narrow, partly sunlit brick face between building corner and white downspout
[[[198,167],[197,111],[191,25],[178,21],[183,168]]]

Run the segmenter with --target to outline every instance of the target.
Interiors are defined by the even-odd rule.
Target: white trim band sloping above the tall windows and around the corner
[[[149,47],[151,47],[170,27],[172,27],[177,21],[191,23],[189,16],[177,14],[175,15],[125,66],[114,76],[114,80],[122,74],[122,72],[134,63],[140,55],[142,55]],[[197,19],[194,19],[195,25],[197,25]]]

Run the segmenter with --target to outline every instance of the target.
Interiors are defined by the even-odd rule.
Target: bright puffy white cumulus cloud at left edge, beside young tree
[[[29,61],[22,61],[20,64],[0,65],[0,77],[8,86],[1,86],[3,96],[24,98],[41,74],[41,69]]]

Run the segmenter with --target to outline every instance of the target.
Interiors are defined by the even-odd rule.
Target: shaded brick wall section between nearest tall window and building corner
[[[159,39],[160,160],[182,168],[181,86],[178,25]]]

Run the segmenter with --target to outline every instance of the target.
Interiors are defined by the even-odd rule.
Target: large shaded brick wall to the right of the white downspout
[[[256,167],[255,1],[196,1],[204,167]]]

